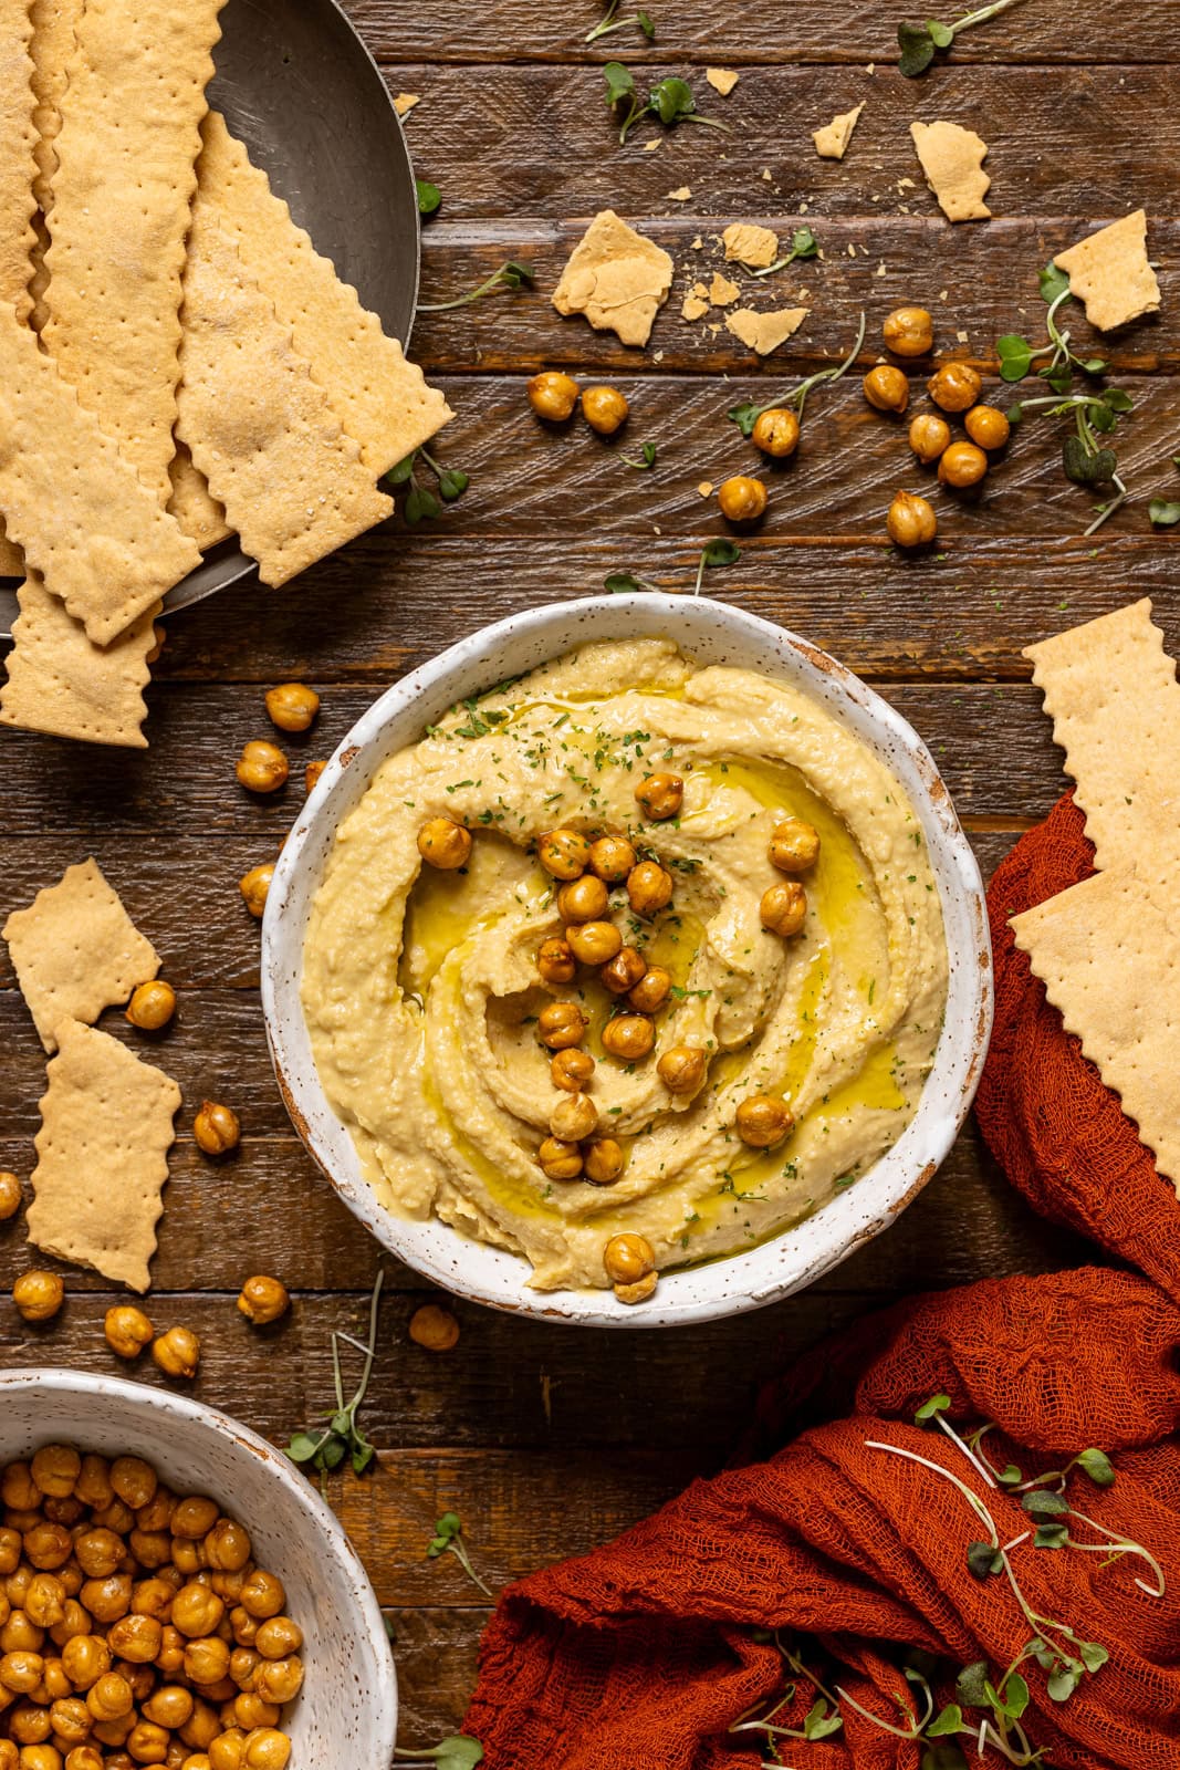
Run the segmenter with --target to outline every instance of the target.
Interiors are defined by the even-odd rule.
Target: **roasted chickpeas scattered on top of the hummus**
[[[678,818],[683,800],[685,781],[676,773],[646,775],[635,788],[639,812],[649,823]],[[471,830],[453,818],[428,818],[418,832],[421,858],[444,873],[464,867],[471,848]],[[798,874],[808,873],[817,858],[819,832],[810,823],[784,818],[775,825],[768,860],[785,878],[770,885],[759,903],[768,933],[789,940],[803,929],[807,892]],[[610,919],[610,892],[624,890],[632,913],[651,920],[672,903],[670,871],[658,860],[640,860],[626,835],[587,835],[571,827],[543,835],[538,860],[556,883],[563,920],[563,933],[547,936],[538,949],[541,982],[563,988],[575,981],[579,966],[596,972],[617,1004],[601,1027],[603,1051],[623,1064],[642,1062],[655,1050],[655,1016],[672,995],[672,975],[623,942]],[[536,1025],[541,1044],[552,1053],[550,1080],[559,1092],[538,1165],[548,1181],[614,1186],[626,1158],[617,1138],[600,1135],[598,1106],[587,1092],[596,1069],[591,1053],[582,1050],[589,1016],[580,1002],[556,1000],[540,1011]],[[669,1094],[692,1097],[706,1081],[708,1064],[704,1046],[676,1044],[662,1053],[656,1074]],[[748,1147],[773,1149],[793,1131],[794,1115],[782,1096],[754,1094],[738,1106],[734,1126]],[[656,1287],[655,1251],[642,1235],[614,1235],[603,1250],[603,1264],[623,1303],[642,1303]]]

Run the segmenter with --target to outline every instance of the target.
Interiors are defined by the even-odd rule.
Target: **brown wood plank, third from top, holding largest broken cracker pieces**
[[[601,165],[601,154],[594,161]],[[430,159],[423,159],[421,168],[425,175],[439,170]],[[683,168],[665,166],[660,189],[672,189],[679,175],[685,175]],[[773,386],[778,388],[784,372],[791,381],[796,373],[837,363],[856,336],[856,315],[862,308],[870,322],[863,352],[867,368],[877,361],[877,327],[890,308],[920,301],[939,317],[943,354],[994,370],[994,340],[1003,333],[1044,338],[1046,310],[1037,273],[1056,248],[1070,244],[1093,227],[1090,218],[1100,216],[1099,209],[1083,205],[1072,214],[1046,212],[1042,219],[998,212],[985,225],[952,227],[936,212],[916,212],[925,200],[920,191],[897,198],[913,204],[915,214],[909,216],[824,216],[817,205],[800,214],[780,204],[768,184],[761,186],[766,195],[759,198],[759,182],[757,175],[747,173],[741,200],[732,207],[713,204],[709,188],[702,184],[692,214],[685,214],[683,207],[678,214],[649,209],[632,196],[630,188],[621,191],[617,184],[600,196],[603,204],[619,204],[626,219],[670,251],[678,266],[674,292],[656,319],[646,354],[621,345],[614,333],[593,331],[579,315],[563,319],[550,304],[563,266],[600,207],[598,200],[579,188],[577,212],[571,214],[566,200],[561,219],[520,219],[522,211],[510,209],[504,219],[460,221],[446,219],[449,204],[444,191],[441,218],[423,228],[423,303],[449,301],[476,289],[506,258],[529,264],[536,274],[536,289],[485,296],[448,313],[419,312],[412,338],[414,358],[435,375],[594,366],[644,375],[679,370],[731,377],[739,373],[743,382],[761,375],[775,377]],[[660,211],[676,207],[660,204]],[[1000,211],[1000,204],[996,207]],[[1120,209],[1125,207],[1123,195]],[[711,274],[722,262],[709,250],[711,235],[736,219],[762,221],[782,239],[789,239],[793,228],[807,221],[824,253],[823,260],[794,264],[775,278],[762,280],[759,306],[782,304],[785,290],[805,287],[814,310],[785,350],[761,366],[727,331],[713,336],[704,324],[692,326],[679,317],[683,294],[701,274],[701,264]],[[704,241],[701,251],[692,250],[697,235]],[[1166,287],[1180,264],[1180,223],[1152,218],[1150,246]],[[766,281],[771,289],[766,289]],[[943,289],[945,303],[939,301]],[[1086,356],[1100,345],[1116,373],[1155,373],[1161,368],[1175,372],[1180,365],[1180,308],[1175,303],[1164,303],[1159,317],[1106,340],[1086,326],[1076,304],[1070,304],[1069,324],[1074,343],[1084,347]],[[966,331],[966,343],[959,342],[959,331]],[[449,448],[455,437],[448,434],[446,441]]]

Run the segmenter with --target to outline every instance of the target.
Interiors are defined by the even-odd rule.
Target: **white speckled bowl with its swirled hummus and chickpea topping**
[[[292,1120],[377,1239],[552,1320],[759,1308],[934,1175],[984,889],[911,727],[711,600],[557,604],[357,722],[262,942]]]

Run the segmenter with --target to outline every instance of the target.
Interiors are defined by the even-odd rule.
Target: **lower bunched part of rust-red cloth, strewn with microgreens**
[[[1175,1761],[1176,1347],[1180,1310],[1145,1280],[1107,1269],[987,1280],[860,1322],[770,1391],[759,1416],[762,1432],[800,1409],[851,1409],[851,1418],[808,1428],[768,1462],[693,1483],[609,1547],[504,1593],[465,1720],[488,1770],[1000,1765],[992,1745],[977,1759],[987,1708],[962,1708],[962,1735],[908,1738],[925,1696],[899,1667],[915,1650],[938,1655],[939,1669],[923,1662],[925,1676],[946,1705],[959,1667],[985,1660],[992,1683],[1003,1682],[1037,1634],[1069,1651],[1061,1630],[1074,1630],[1077,1651],[1086,1643],[1095,1669],[1077,1660],[1065,1680],[1076,1689],[1065,1699],[1058,1683],[1054,1699],[1053,1671],[1035,1655],[1021,1662],[1019,1726],[1031,1747],[1077,1770]],[[932,1397],[938,1418],[915,1423]],[[975,1443],[994,1474],[939,1418],[959,1435],[991,1423]],[[1070,1538],[1099,1552],[1035,1547],[1037,1519],[998,1473],[1012,1487],[1008,1464],[1028,1481],[1088,1446],[1109,1455],[1113,1485],[1076,1467],[1049,1490],[1063,1485]],[[1035,1623],[1003,1570],[978,1566],[978,1552],[969,1568],[968,1549],[989,1526],[948,1476],[1012,1545],[1007,1563]],[[1152,1565],[1102,1531],[1150,1551],[1162,1595]],[[826,1736],[732,1731],[743,1717],[764,1719],[791,1685],[775,1726],[803,1733],[821,1703]],[[1014,1697],[1017,1687],[1003,1689]]]

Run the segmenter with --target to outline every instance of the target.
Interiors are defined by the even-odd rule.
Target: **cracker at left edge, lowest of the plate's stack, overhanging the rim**
[[[81,743],[145,749],[143,690],[159,604],[103,648],[90,644],[85,628],[41,579],[28,577],[16,600],[21,612],[12,627],[9,680],[0,689],[0,724]]]

